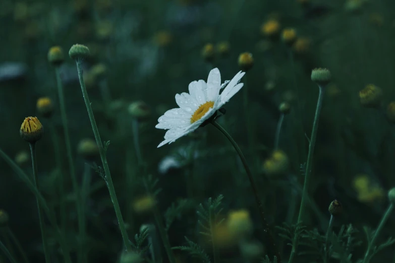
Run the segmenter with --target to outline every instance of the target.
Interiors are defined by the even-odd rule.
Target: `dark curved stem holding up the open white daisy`
[[[211,124],[214,125],[214,127],[216,127],[229,140],[229,142],[231,142],[231,144],[235,148],[236,152],[239,154],[239,157],[240,157],[240,159],[241,159],[241,161],[242,161],[242,163],[244,165],[244,169],[246,170],[246,173],[248,175],[248,179],[250,180],[251,188],[252,188],[253,193],[255,195],[255,201],[256,201],[256,203],[258,205],[259,212],[260,212],[259,214],[261,216],[261,220],[262,220],[262,224],[263,224],[263,231],[265,233],[267,233],[267,236],[269,238],[269,242],[270,242],[270,244],[272,246],[273,254],[277,257],[278,263],[281,263],[280,253],[278,252],[278,249],[277,249],[277,246],[276,246],[276,244],[274,242],[274,238],[273,238],[273,236],[271,234],[269,225],[268,225],[268,223],[266,221],[265,212],[263,210],[263,205],[262,205],[261,201],[259,200],[258,190],[257,190],[257,187],[255,185],[254,178],[252,177],[251,170],[248,167],[247,160],[244,157],[244,154],[240,150],[239,146],[236,144],[235,140],[233,140],[233,138],[228,134],[228,132],[224,128],[222,128],[221,125],[218,124],[218,122],[213,120],[213,121],[211,121]]]

